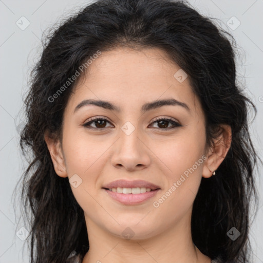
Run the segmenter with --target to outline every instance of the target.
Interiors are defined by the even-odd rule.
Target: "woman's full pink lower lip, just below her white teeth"
[[[140,194],[119,194],[117,192],[112,192],[107,189],[104,190],[114,200],[119,201],[123,204],[138,204],[144,202],[149,198],[154,197],[160,189]]]

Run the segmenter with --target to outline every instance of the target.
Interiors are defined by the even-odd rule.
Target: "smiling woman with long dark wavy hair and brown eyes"
[[[51,32],[21,134],[32,262],[248,262],[255,106],[228,36],[168,0],[97,1]]]

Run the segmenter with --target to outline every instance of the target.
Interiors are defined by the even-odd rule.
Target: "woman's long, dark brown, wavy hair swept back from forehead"
[[[23,155],[31,156],[21,194],[31,228],[30,262],[64,262],[71,253],[83,259],[89,249],[84,212],[68,178],[55,173],[44,140],[47,131],[61,139],[64,109],[77,80],[55,101],[49,98],[98,50],[122,47],[159,48],[187,73],[205,115],[207,147],[220,135],[220,124],[231,126],[231,146],[216,176],[201,180],[191,231],[196,247],[210,258],[248,262],[258,159],[248,114],[250,107],[256,114],[256,108],[236,80],[233,36],[186,1],[99,0],[52,28],[43,42],[30,75],[20,135]],[[232,227],[240,232],[235,241],[227,235]]]

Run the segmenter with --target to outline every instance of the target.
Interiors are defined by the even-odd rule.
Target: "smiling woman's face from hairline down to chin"
[[[102,52],[88,66],[65,108],[58,161],[87,227],[142,239],[189,224],[207,158],[204,114],[185,77],[159,49]],[[105,189],[119,179],[146,184],[118,190],[137,194]]]

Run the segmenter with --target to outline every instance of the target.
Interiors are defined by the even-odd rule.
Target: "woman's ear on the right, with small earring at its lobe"
[[[208,153],[208,158],[205,160],[203,165],[202,176],[209,178],[212,173],[217,170],[219,165],[222,163],[224,158],[227,156],[231,141],[232,131],[231,127],[226,124],[221,124],[221,134],[214,141],[214,146],[211,146]]]

